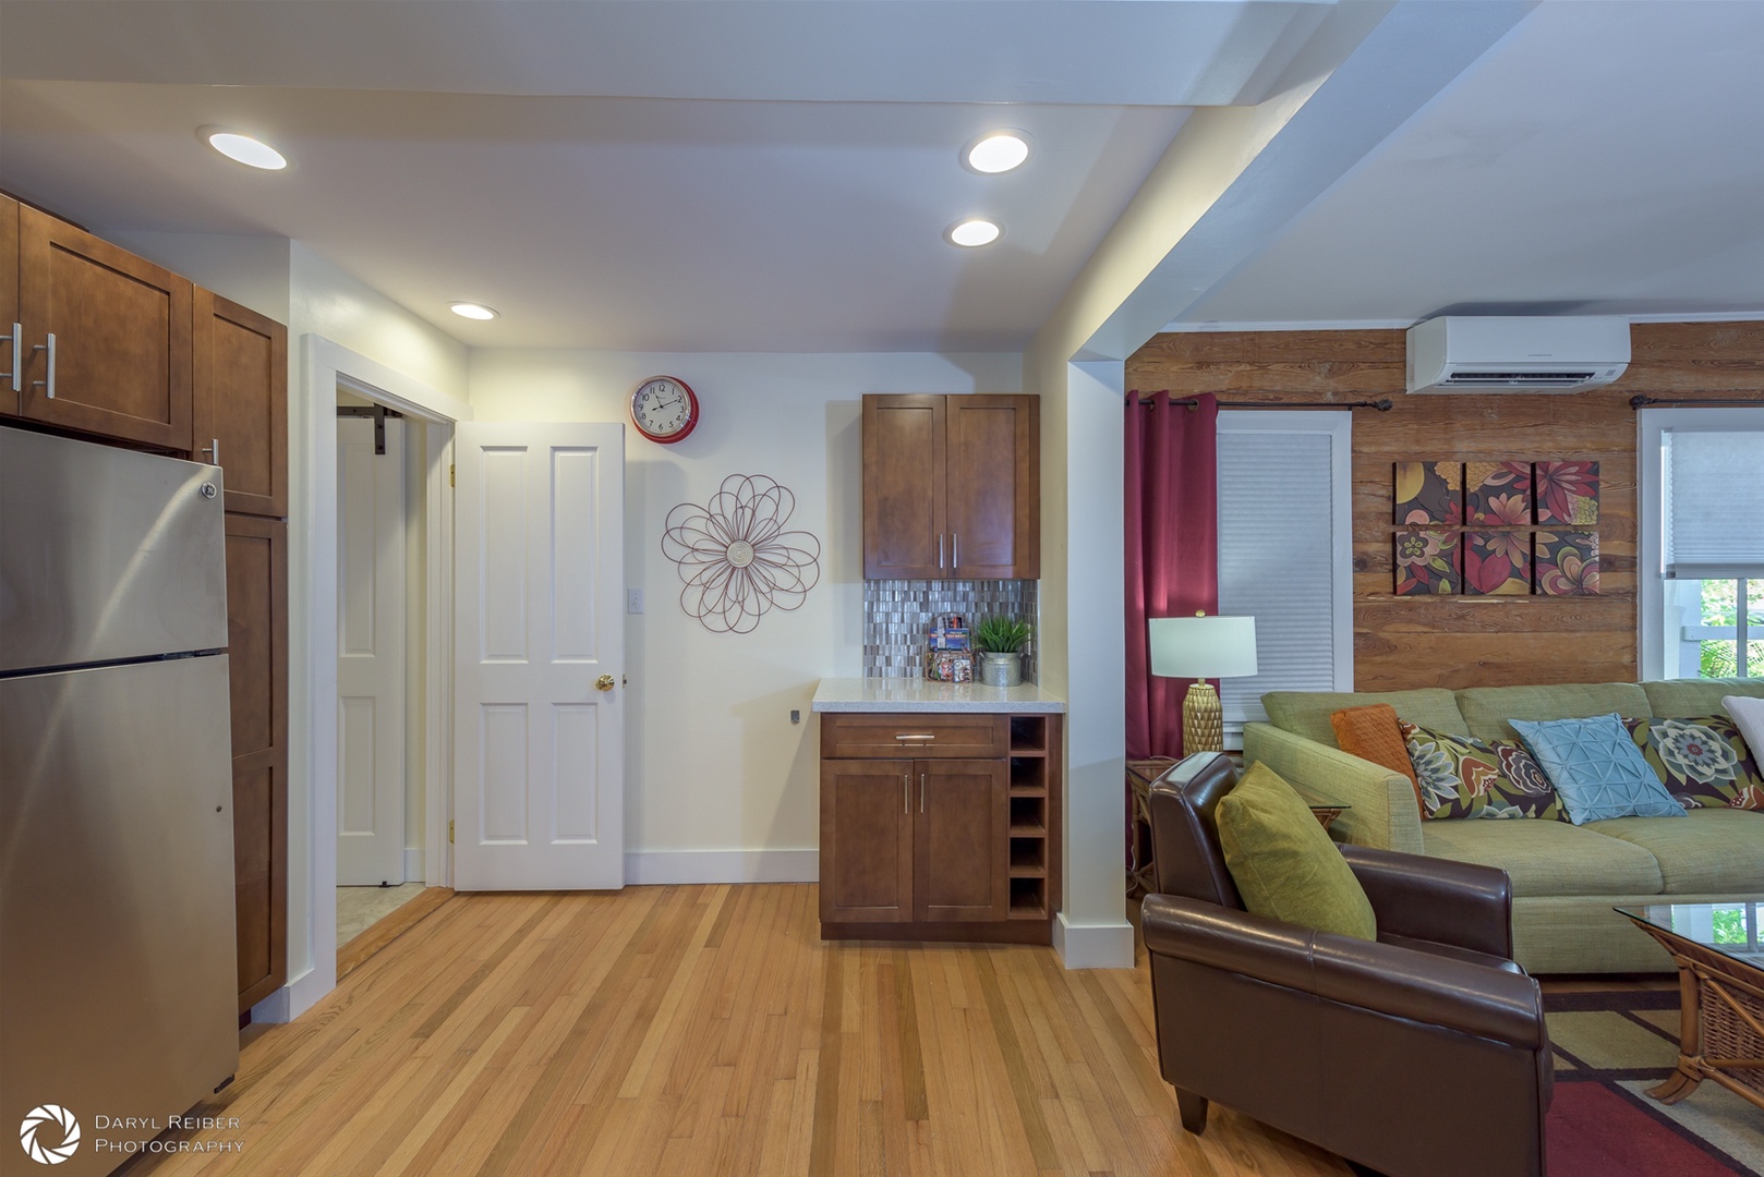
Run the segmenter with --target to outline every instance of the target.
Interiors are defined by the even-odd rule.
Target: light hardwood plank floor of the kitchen
[[[1341,1175],[1226,1108],[1177,1124],[1143,965],[824,944],[813,886],[457,895],[171,1133],[183,1173]],[[173,1145],[178,1147],[178,1145]]]

